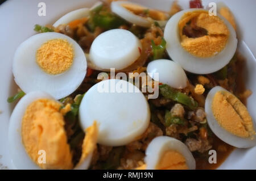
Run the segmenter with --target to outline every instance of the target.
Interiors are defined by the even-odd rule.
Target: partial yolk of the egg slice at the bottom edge
[[[162,158],[156,166],[158,170],[185,170],[188,169],[183,155],[175,150],[168,150],[163,153]]]

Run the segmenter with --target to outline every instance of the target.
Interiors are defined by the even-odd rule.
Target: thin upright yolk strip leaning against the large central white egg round
[[[81,165],[82,162],[88,157],[88,155],[93,153],[94,149],[96,148],[98,140],[97,122],[94,121],[90,127],[86,128],[85,132],[85,138],[82,142],[82,155],[79,163],[77,163],[78,166]]]

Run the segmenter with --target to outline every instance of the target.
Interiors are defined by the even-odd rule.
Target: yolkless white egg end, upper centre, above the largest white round
[[[141,41],[127,30],[114,29],[101,33],[90,47],[90,61],[101,69],[121,70],[141,56]]]

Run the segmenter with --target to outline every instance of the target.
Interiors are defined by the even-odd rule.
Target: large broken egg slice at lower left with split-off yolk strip
[[[61,103],[42,91],[26,94],[9,124],[10,155],[16,169],[72,169]],[[87,169],[97,141],[97,124],[86,129],[82,156],[75,169]]]

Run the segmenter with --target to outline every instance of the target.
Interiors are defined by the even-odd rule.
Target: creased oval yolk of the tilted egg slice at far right
[[[226,131],[242,138],[254,138],[253,120],[249,112],[230,92],[216,92],[213,97],[212,112],[218,124]]]

